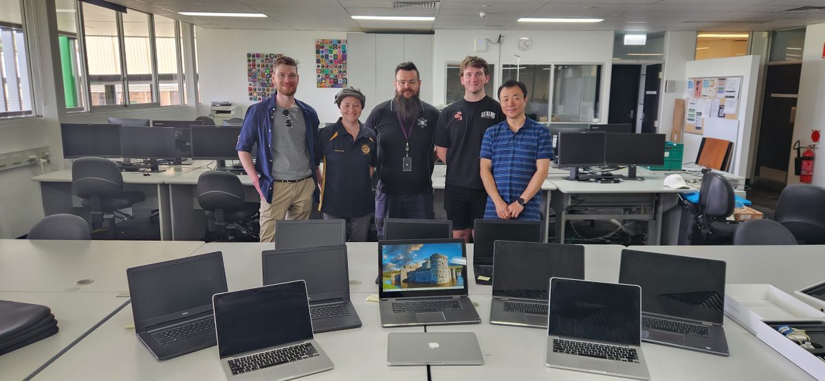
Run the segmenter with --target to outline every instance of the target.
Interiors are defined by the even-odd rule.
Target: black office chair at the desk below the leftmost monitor
[[[115,219],[133,219],[120,209],[146,200],[139,191],[123,191],[123,176],[114,162],[105,158],[78,158],[72,164],[72,191],[89,210],[92,229],[109,220],[109,237],[116,238]]]

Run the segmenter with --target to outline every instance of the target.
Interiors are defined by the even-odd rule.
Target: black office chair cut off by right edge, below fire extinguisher
[[[786,186],[776,203],[774,219],[788,228],[801,244],[825,243],[825,188],[804,184]]]

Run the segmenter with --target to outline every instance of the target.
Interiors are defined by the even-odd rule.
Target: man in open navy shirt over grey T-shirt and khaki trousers
[[[249,106],[238,136],[238,158],[261,195],[261,242],[275,240],[277,219],[308,219],[313,198],[318,198],[317,167],[311,160],[318,114],[295,99],[298,81],[298,61],[276,59],[272,78],[276,94]]]

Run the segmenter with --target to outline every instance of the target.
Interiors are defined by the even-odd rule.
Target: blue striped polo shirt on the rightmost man
[[[518,200],[535,174],[535,161],[553,158],[553,146],[549,129],[527,118],[518,132],[514,133],[507,120],[493,125],[484,133],[480,158],[493,161],[493,179],[498,194],[507,204]],[[540,219],[541,195],[527,201],[518,219]],[[485,219],[498,219],[493,199],[487,197]]]

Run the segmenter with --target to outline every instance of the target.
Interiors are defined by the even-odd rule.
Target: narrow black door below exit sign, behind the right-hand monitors
[[[610,72],[610,110],[607,123],[636,125],[642,65],[613,65]]]

